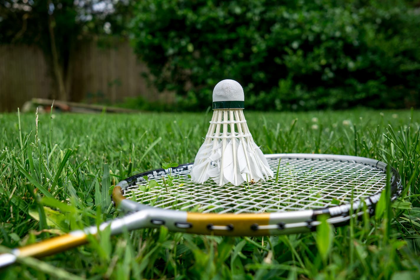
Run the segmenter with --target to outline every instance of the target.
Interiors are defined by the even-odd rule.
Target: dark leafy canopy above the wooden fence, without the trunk
[[[57,44],[66,52],[81,35],[126,35],[129,15],[127,1],[0,0],[0,43],[38,44],[50,51],[48,18],[53,16],[57,40],[62,40]]]

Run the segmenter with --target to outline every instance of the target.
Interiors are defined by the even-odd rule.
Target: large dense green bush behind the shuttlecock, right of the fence
[[[208,107],[222,79],[259,110],[416,106],[420,17],[387,3],[144,0],[131,39],[181,109]]]

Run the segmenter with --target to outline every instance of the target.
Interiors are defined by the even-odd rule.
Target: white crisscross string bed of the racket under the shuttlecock
[[[274,180],[218,186],[193,183],[189,170],[129,186],[125,196],[142,204],[195,212],[241,213],[319,209],[350,203],[380,192],[386,173],[376,167],[333,160],[268,160]],[[277,175],[278,169],[278,175]],[[277,178],[278,176],[278,178]],[[276,183],[276,181],[278,183]]]

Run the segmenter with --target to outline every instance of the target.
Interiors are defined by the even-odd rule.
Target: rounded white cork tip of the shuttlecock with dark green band
[[[244,108],[244,89],[234,80],[218,82],[213,89],[213,109],[235,108]]]

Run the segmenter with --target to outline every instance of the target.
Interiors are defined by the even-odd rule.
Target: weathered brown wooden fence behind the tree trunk
[[[128,42],[98,47],[97,42],[81,41],[69,61],[65,79],[68,101],[88,103],[123,101],[141,95],[145,99],[173,99],[158,94],[141,73],[139,62]],[[25,101],[56,96],[53,69],[36,46],[0,45],[0,112],[16,111]]]

